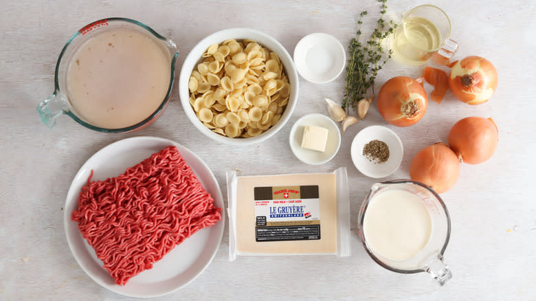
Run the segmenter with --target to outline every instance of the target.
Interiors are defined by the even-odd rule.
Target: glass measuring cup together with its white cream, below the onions
[[[445,203],[409,180],[372,186],[359,210],[359,236],[379,265],[403,274],[427,272],[439,285],[452,277],[443,261],[450,237]]]

